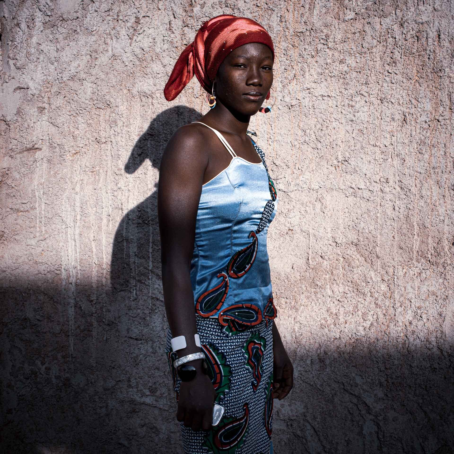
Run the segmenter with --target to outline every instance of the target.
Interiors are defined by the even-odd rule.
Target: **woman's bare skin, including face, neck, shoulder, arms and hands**
[[[199,120],[220,131],[235,153],[251,163],[261,160],[246,131],[251,115],[261,108],[271,88],[272,66],[271,50],[264,44],[244,44],[233,50],[214,80],[216,107]],[[190,268],[202,184],[227,168],[231,159],[216,134],[199,123],[178,128],[163,154],[158,192],[163,293],[172,336],[183,335],[187,342],[186,348],[178,350],[179,358],[200,352],[194,341],[197,328]],[[272,335],[273,397],[281,400],[293,386],[293,366],[274,322]],[[193,430],[210,430],[214,387],[202,373],[202,360],[188,364],[196,367],[197,375],[181,383],[177,419]]]

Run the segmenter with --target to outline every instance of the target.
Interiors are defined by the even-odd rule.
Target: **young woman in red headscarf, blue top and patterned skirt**
[[[261,25],[217,16],[164,89],[170,101],[195,74],[211,107],[173,134],[159,176],[167,352],[185,453],[272,453],[273,397],[293,385],[266,250],[277,194],[264,153],[247,135],[251,115],[271,110],[262,104],[273,61]],[[224,413],[212,425],[215,403]]]

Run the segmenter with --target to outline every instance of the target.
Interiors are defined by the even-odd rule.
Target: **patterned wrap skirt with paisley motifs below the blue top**
[[[215,402],[224,415],[211,430],[195,432],[181,422],[185,454],[272,453],[273,415],[273,321],[256,326],[223,327],[217,318],[196,315],[197,332],[208,364],[208,375],[216,390]],[[179,379],[167,331],[166,352],[178,402]]]

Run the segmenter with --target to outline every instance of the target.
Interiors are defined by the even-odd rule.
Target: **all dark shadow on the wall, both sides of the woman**
[[[159,114],[125,171],[146,159],[159,168],[174,130],[198,116],[183,106]],[[0,301],[1,453],[182,453],[163,351],[156,190],[118,225],[111,288],[22,280],[3,284]],[[446,351],[391,341],[383,350],[370,340],[289,351],[295,386],[275,404],[275,452],[452,454]]]

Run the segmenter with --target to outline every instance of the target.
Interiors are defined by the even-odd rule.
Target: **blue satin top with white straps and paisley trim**
[[[276,317],[266,235],[278,200],[257,144],[251,139],[262,159],[258,164],[237,156],[222,134],[210,129],[232,160],[202,186],[191,283],[197,315],[216,317],[232,334]]]

